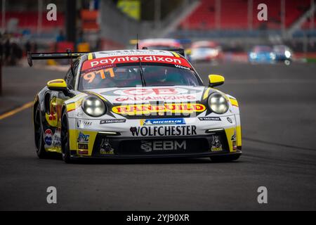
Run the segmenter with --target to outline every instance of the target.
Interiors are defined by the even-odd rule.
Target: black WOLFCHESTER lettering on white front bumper
[[[131,127],[133,136],[188,136],[196,135],[196,126],[166,126],[166,127]]]

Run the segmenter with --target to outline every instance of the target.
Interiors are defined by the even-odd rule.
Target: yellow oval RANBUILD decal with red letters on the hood
[[[166,103],[164,105],[135,104],[119,105],[112,108],[113,113],[123,115],[150,115],[152,113],[202,113],[205,106],[199,103]]]

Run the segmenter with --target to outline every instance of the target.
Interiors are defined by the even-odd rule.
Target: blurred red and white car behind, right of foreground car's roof
[[[190,53],[192,62],[218,62],[223,60],[222,49],[214,41],[195,41]]]

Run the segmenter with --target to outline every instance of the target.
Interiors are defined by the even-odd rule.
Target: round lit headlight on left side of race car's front
[[[84,113],[91,117],[100,117],[106,112],[106,106],[103,101],[96,96],[87,96],[81,103]]]

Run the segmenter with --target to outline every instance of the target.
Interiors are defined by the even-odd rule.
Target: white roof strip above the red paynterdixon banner
[[[92,54],[93,58],[105,58],[105,57],[115,57],[115,56],[174,56],[171,51],[164,50],[150,50],[150,49],[123,49],[123,50],[113,50],[113,51],[97,51]]]

